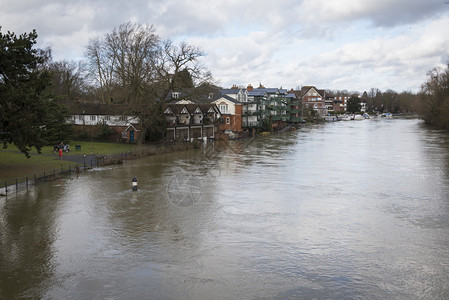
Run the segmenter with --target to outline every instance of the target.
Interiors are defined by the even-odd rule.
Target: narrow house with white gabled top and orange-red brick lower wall
[[[223,95],[212,102],[220,110],[221,118],[219,122],[220,133],[242,132],[242,104],[232,97]]]

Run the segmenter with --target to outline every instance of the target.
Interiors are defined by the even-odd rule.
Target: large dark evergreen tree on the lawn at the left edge
[[[1,28],[0,28],[1,29]],[[37,33],[0,31],[0,141],[15,144],[27,157],[32,147],[61,142],[67,114],[51,94],[49,51],[35,49]]]

